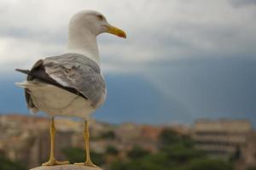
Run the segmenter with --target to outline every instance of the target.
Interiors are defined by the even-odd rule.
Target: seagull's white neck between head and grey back
[[[96,35],[90,31],[77,31],[70,28],[68,32],[67,53],[83,54],[100,65]]]

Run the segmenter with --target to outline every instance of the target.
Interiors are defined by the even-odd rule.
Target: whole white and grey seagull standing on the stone
[[[67,50],[61,55],[39,59],[31,70],[16,69],[27,75],[16,82],[25,89],[32,114],[43,111],[50,117],[49,161],[43,166],[69,164],[55,160],[55,116],[75,116],[84,120],[86,160],[78,165],[97,167],[90,159],[90,115],[105,101],[106,82],[102,76],[96,37],[104,32],[126,38],[125,31],[111,26],[106,17],[93,10],[74,14],[68,25]]]

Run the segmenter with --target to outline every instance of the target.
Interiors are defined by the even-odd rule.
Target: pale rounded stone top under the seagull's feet
[[[78,166],[78,165],[56,165],[56,166],[34,167],[30,170],[102,170],[102,168],[86,167],[86,166]]]

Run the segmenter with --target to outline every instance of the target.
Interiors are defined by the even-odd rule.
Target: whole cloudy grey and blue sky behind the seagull
[[[147,94],[140,95],[155,99],[150,101],[154,112],[162,112],[157,122],[189,122],[207,113],[242,113],[246,118],[256,114],[255,0],[0,0],[3,88],[8,84],[5,79],[17,74],[15,68],[30,68],[37,59],[65,52],[68,20],[82,9],[100,11],[126,31],[126,40],[108,34],[98,37],[102,71],[110,89],[119,84],[121,99],[132,100],[134,92],[147,88]],[[136,89],[122,94],[128,88]],[[116,93],[110,90],[110,96],[112,92]],[[145,96],[129,107],[137,107]],[[150,113],[152,109],[143,110],[150,102],[140,103],[146,117],[142,122],[159,116]],[[173,116],[177,113],[183,116]],[[125,119],[135,120],[124,116],[116,122]]]

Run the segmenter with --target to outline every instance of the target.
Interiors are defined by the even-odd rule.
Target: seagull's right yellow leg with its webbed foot
[[[83,165],[88,167],[97,167],[93,162],[90,160],[90,146],[89,146],[89,127],[88,121],[84,121],[84,150],[86,161],[84,163],[75,163],[75,165]]]

